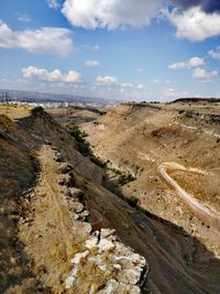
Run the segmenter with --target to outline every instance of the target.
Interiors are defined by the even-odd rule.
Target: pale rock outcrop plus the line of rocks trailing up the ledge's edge
[[[62,176],[72,176],[72,166],[57,161]],[[84,192],[69,186],[69,181],[58,181],[66,186],[64,197],[73,219],[74,228],[87,238],[72,259],[73,269],[65,281],[65,287],[73,293],[141,293],[148,268],[143,257],[124,246],[116,236],[116,230],[101,229],[91,232],[89,211],[85,207]]]

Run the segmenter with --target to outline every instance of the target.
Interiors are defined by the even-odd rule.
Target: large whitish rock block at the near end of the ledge
[[[114,230],[95,231],[84,247],[72,259],[66,288],[79,287],[81,277],[91,275],[85,281],[88,293],[141,293],[142,277],[147,274],[146,261],[121,243]]]

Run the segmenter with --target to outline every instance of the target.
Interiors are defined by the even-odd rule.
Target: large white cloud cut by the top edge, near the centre
[[[62,12],[85,29],[144,26],[156,17],[161,0],[65,0]]]

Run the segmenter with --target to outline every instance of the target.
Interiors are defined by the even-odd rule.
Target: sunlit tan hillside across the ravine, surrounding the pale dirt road
[[[108,162],[110,182],[138,206],[184,228],[220,254],[220,105],[121,105],[82,126],[97,156]],[[187,205],[160,173],[164,163],[172,178],[200,206],[213,211],[212,221]],[[191,173],[189,168],[201,173]],[[131,181],[118,181],[119,171]],[[198,209],[197,209],[198,210]],[[217,240],[218,239],[218,240]]]

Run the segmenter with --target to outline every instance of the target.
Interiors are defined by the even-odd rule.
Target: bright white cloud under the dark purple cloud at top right
[[[168,18],[177,28],[177,37],[199,42],[220,35],[220,14],[206,13],[200,7],[194,7],[183,12],[174,9]]]

